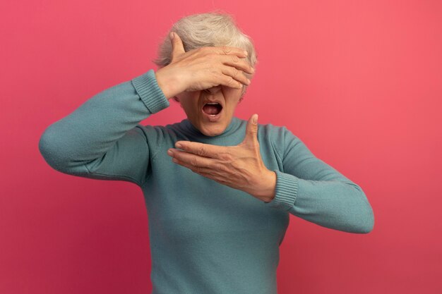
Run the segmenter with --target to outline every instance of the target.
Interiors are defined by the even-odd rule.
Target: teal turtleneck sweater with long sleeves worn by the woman
[[[141,125],[169,106],[150,70],[95,94],[40,137],[53,169],[125,180],[148,210],[152,294],[275,294],[279,246],[289,214],[349,233],[369,233],[371,205],[359,185],[316,158],[287,128],[258,124],[265,166],[277,175],[275,198],[255,197],[205,178],[167,155],[179,140],[238,145],[246,121],[232,118],[208,137],[188,119]]]

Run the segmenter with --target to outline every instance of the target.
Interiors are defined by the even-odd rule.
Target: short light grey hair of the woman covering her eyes
[[[162,37],[158,46],[158,57],[153,60],[157,66],[167,66],[171,61],[172,44],[169,33],[175,32],[183,42],[184,51],[198,49],[200,47],[238,47],[249,54],[246,59],[255,68],[258,63],[258,55],[251,37],[245,35],[233,16],[220,9],[208,13],[198,13],[180,18],[172,28]],[[256,71],[256,68],[255,68]],[[244,75],[251,80],[253,75],[244,72]],[[246,92],[247,86],[243,85],[241,99]]]

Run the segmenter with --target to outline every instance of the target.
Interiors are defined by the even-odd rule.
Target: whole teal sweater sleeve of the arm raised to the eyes
[[[143,185],[155,138],[139,123],[169,106],[151,69],[95,94],[68,116],[49,125],[40,153],[56,171]]]

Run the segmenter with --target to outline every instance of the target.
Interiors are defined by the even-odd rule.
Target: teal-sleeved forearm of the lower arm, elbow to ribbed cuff
[[[301,219],[349,233],[369,233],[374,214],[364,191],[339,180],[304,180],[277,171],[273,207]]]

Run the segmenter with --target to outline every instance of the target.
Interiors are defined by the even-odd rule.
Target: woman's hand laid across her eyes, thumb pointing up
[[[184,51],[183,42],[173,33],[172,61],[155,72],[158,85],[167,99],[184,91],[205,90],[217,85],[241,89],[249,85],[244,71],[254,70],[244,49],[236,47],[201,47]]]

